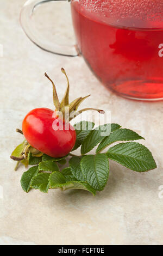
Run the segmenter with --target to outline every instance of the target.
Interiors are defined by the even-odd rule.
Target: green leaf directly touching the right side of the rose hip
[[[74,145],[73,150],[76,150],[77,148],[82,145],[84,139],[89,135],[93,127],[95,126],[94,123],[88,122],[88,121],[81,121],[77,124],[74,124],[74,129],[76,129],[76,144]]]

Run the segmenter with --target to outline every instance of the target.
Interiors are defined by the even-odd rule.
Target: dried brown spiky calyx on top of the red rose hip
[[[45,76],[48,78],[49,81],[52,82],[52,85],[53,85],[53,103],[55,106],[55,111],[57,111],[58,115],[60,115],[60,113],[61,113],[62,117],[64,119],[66,119],[66,121],[71,121],[74,117],[77,117],[77,115],[79,115],[82,112],[87,111],[87,110],[95,110],[95,111],[98,111],[99,113],[103,114],[104,113],[103,110],[96,109],[96,108],[84,108],[84,109],[77,111],[79,105],[90,95],[87,95],[85,97],[78,97],[76,100],[73,100],[71,103],[69,103],[70,83],[68,81],[68,77],[66,75],[65,70],[63,68],[61,68],[61,71],[66,76],[66,80],[67,80],[67,89],[66,89],[65,95],[61,102],[58,99],[58,94],[57,94],[57,90],[55,88],[54,82],[45,73]]]

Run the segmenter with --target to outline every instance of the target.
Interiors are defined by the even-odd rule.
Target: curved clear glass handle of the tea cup
[[[35,29],[35,27],[32,24],[31,17],[35,11],[35,8],[38,7],[39,5],[47,2],[54,2],[54,1],[67,1],[67,0],[28,0],[20,14],[20,22],[21,26],[28,36],[28,38],[34,42],[35,45],[39,46],[45,51],[63,55],[63,56],[69,56],[69,57],[75,57],[78,56],[79,53],[77,51],[76,45],[59,45],[56,44],[55,42],[49,42],[45,41],[41,37],[41,35],[38,33],[38,31]],[[70,0],[68,0],[70,1]]]

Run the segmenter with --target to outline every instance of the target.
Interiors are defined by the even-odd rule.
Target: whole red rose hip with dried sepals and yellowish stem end
[[[63,68],[61,71],[66,76],[67,89],[61,102],[58,99],[55,84],[45,73],[45,76],[53,85],[53,103],[55,109],[35,108],[30,111],[22,122],[22,131],[17,129],[26,138],[21,145],[13,151],[11,159],[22,162],[28,166],[29,154],[40,157],[46,154],[51,157],[64,157],[73,149],[76,143],[76,131],[69,123],[78,114],[87,110],[96,110],[104,113],[101,109],[84,108],[77,112],[77,109],[87,97],[78,97],[69,103],[70,83]],[[17,166],[18,166],[17,163]],[[16,166],[16,168],[17,168]]]

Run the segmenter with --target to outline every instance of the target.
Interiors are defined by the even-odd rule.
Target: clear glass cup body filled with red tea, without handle
[[[138,5],[143,2],[136,1]],[[95,2],[98,7],[94,11],[91,8]],[[148,17],[140,10],[136,13],[134,7],[129,15],[124,11],[122,16],[120,3],[124,7],[124,3],[133,1],[115,2],[119,3],[115,5],[120,9],[119,17],[114,9],[109,13],[110,0],[72,1],[79,50],[97,77],[112,91],[133,99],[163,99],[163,57],[159,57],[159,45],[163,44],[163,1],[144,1],[148,4],[145,6]]]

